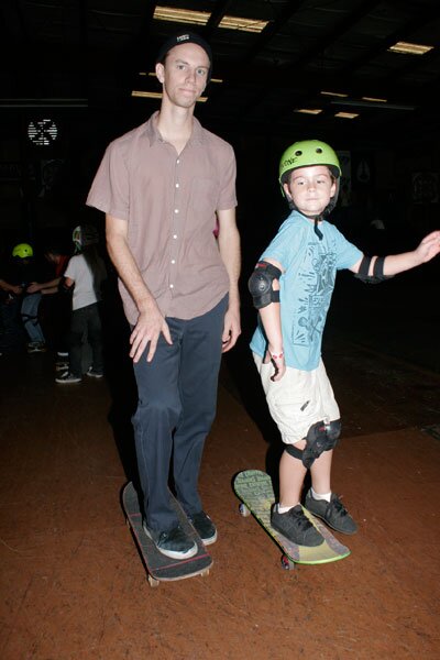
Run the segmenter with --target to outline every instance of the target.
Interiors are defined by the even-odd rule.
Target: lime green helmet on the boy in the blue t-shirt
[[[283,189],[283,184],[286,183],[287,175],[294,169],[312,167],[314,165],[327,165],[337,180],[336,194],[323,211],[323,215],[327,216],[334,208],[338,200],[341,166],[337,154],[326,142],[321,140],[304,140],[302,142],[294,142],[294,144],[288,146],[279,161],[279,185]]]

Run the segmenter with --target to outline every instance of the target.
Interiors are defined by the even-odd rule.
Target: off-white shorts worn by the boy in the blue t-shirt
[[[258,370],[267,406],[282,435],[283,442],[295,444],[302,440],[317,421],[333,421],[340,418],[333,389],[322,360],[311,372],[292,366],[280,381],[271,381],[274,374],[272,362],[263,364],[260,355],[253,354]]]

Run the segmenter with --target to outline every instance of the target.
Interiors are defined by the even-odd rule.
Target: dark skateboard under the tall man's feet
[[[177,499],[170,494],[173,506],[185,531],[197,542],[197,554],[189,559],[172,559],[162,554],[146,536],[142,527],[142,514],[139,506],[138,493],[132,482],[122,492],[122,507],[127,516],[127,525],[134,536],[138,550],[146,569],[150,586],[158,586],[161,582],[185,580],[195,575],[208,575],[212,566],[212,558],[207,552],[202,540],[194,529]]]

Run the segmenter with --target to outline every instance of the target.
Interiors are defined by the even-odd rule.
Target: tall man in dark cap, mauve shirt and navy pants
[[[198,34],[165,42],[156,62],[161,109],[109,145],[87,199],[106,212],[108,250],[132,328],[144,529],[175,559],[193,557],[197,546],[169,502],[172,460],[184,510],[205,543],[217,539],[197,482],[221,353],[240,334],[235,158],[194,118],[211,67],[210,46]]]

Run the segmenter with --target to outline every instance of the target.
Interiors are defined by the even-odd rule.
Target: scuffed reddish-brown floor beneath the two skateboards
[[[340,537],[348,559],[295,571],[231,487],[248,468],[275,475],[280,451],[246,332],[222,367],[200,475],[215,565],[155,590],[120,504],[133,473],[127,361],[110,351],[103,381],[59,386],[51,353],[1,359],[2,660],[440,657],[440,373],[424,341],[416,359],[402,333],[385,350],[361,332],[355,304],[343,328],[329,319],[326,365],[343,419],[333,487],[360,531]],[[424,322],[433,345],[438,326]]]

